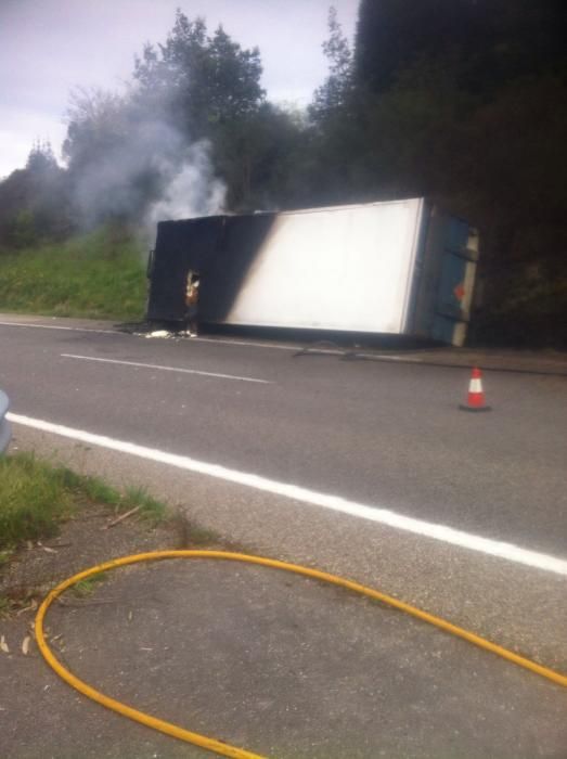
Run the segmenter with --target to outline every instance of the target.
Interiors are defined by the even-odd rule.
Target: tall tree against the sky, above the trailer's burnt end
[[[257,167],[269,153],[263,125],[278,120],[266,104],[261,73],[258,48],[242,49],[222,26],[209,36],[202,18],[190,21],[181,11],[166,42],[145,46],[136,60],[132,97],[138,108],[159,113],[185,145],[210,142],[215,169],[228,184],[234,209],[257,204]]]

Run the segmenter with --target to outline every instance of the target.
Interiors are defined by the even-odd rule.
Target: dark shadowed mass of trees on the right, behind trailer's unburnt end
[[[567,339],[564,31],[557,0],[361,0],[348,97],[312,110],[318,201],[426,195],[480,228],[485,342]]]

